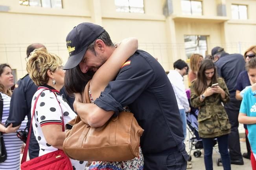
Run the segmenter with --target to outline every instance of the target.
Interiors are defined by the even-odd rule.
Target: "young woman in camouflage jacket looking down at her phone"
[[[218,141],[223,168],[230,170],[228,134],[231,125],[223,105],[229,101],[229,92],[225,81],[217,78],[217,71],[212,60],[204,60],[199,67],[197,79],[191,85],[190,100],[193,107],[199,107],[199,136],[203,140],[206,170],[213,169],[214,138]]]

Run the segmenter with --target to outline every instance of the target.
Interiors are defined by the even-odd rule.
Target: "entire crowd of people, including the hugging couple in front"
[[[70,159],[74,170],[192,168],[184,145],[186,113],[197,108],[205,169],[213,169],[212,148],[217,139],[224,170],[230,170],[231,164],[243,165],[243,157],[251,159],[256,170],[256,46],[244,56],[228,54],[222,47],[212,49],[207,58],[193,54],[190,65],[179,59],[166,76],[153,56],[138,50],[136,38],[114,44],[99,25],[77,25],[67,35],[66,43],[69,58],[64,66],[61,58],[41,43],[29,45],[28,74],[17,82],[13,92],[11,67],[0,65],[4,103],[0,131],[7,150],[0,169],[20,169],[20,149],[26,136],[17,136],[16,132],[25,127],[31,132],[29,159],[35,159],[63,149],[64,127],[77,114],[81,121],[97,128],[123,110],[132,112],[144,129],[139,156],[118,162]],[[187,74],[190,101],[183,81]],[[83,103],[86,85],[90,103]],[[239,122],[247,124],[248,149],[243,155]]]

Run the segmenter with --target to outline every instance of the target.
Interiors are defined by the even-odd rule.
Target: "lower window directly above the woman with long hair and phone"
[[[205,57],[207,51],[206,36],[204,35],[184,35],[185,52],[187,58],[194,53],[201,54]]]

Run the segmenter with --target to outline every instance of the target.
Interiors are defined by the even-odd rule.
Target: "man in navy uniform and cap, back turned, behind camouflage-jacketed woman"
[[[231,133],[228,135],[228,147],[231,164],[243,165],[243,157],[239,142],[238,114],[241,101],[236,99],[236,80],[240,72],[245,70],[245,60],[241,54],[228,54],[222,47],[212,49],[218,76],[224,78],[230,94],[230,102],[225,105],[231,124]]]

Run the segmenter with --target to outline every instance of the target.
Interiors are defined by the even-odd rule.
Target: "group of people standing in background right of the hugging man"
[[[204,59],[200,54],[192,54],[190,58],[190,68],[192,69],[188,73],[191,90],[190,107],[199,110],[197,121],[199,136],[203,141],[206,170],[213,169],[212,147],[215,145],[214,140],[216,139],[224,170],[230,170],[230,164],[243,165],[243,157],[250,159],[252,169],[256,169],[255,155],[253,154],[255,151],[254,148],[251,148],[254,146],[252,131],[255,123],[251,117],[256,111],[254,109],[255,56],[256,46],[247,49],[244,56],[228,54],[222,47],[214,47],[212,54]],[[175,65],[181,61],[174,62],[173,67],[176,71],[179,70]],[[183,62],[185,63],[185,61]],[[179,69],[188,69],[188,67],[182,65]],[[185,93],[185,89],[182,84],[177,88],[175,83],[180,79],[173,76],[172,72],[173,70],[169,71],[168,78],[173,85],[179,103],[180,96]],[[180,73],[180,75],[183,81],[184,74]],[[246,98],[245,94],[247,94]],[[185,108],[187,103],[183,102],[182,106]],[[182,112],[180,112],[180,117],[186,124]],[[239,143],[239,122],[244,123],[246,134],[247,153],[243,153],[243,155]],[[249,129],[247,129],[248,126]],[[192,168],[191,164],[188,164],[187,168]]]

